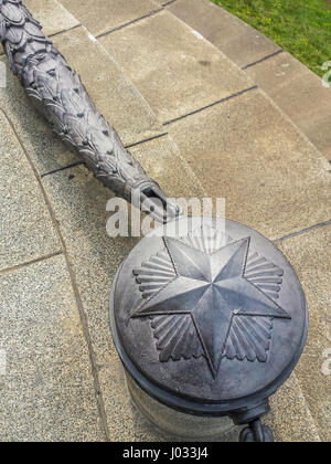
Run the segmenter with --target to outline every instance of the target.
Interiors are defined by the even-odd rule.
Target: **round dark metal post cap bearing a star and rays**
[[[271,441],[268,398],[302,352],[305,295],[282,253],[256,231],[186,218],[151,233],[122,264],[110,295],[114,339],[128,375],[175,410],[249,423],[242,441]],[[195,225],[194,225],[195,224]]]

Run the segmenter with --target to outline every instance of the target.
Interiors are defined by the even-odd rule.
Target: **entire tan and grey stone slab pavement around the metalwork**
[[[174,197],[225,197],[228,217],[277,240],[292,261],[310,337],[267,422],[278,441],[330,441],[330,378],[321,371],[331,347],[324,156],[254,76],[173,15],[184,11],[182,0],[95,2],[92,17],[90,2],[62,3],[70,12],[56,0],[26,1],[148,173]],[[205,7],[226,18],[205,1],[193,4],[201,18]],[[228,21],[227,34],[241,27]],[[274,52],[263,39],[253,42],[248,61]],[[10,75],[0,123],[0,349],[8,361],[0,441],[177,441],[132,405],[108,327],[111,280],[137,239],[108,236],[111,193],[77,166]]]

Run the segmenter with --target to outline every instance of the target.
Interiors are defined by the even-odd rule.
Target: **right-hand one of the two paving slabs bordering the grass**
[[[331,88],[288,53],[249,67],[246,73],[331,160]]]

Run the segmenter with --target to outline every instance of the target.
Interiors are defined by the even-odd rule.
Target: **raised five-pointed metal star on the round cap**
[[[206,254],[175,239],[164,239],[175,277],[132,315],[190,315],[214,377],[234,317],[290,316],[245,278],[249,238]]]

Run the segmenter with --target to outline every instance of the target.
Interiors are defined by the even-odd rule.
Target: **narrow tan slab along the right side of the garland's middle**
[[[164,131],[114,59],[86,30],[79,28],[61,34],[54,43],[81,74],[97,109],[115,127],[125,145]]]

